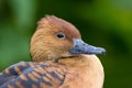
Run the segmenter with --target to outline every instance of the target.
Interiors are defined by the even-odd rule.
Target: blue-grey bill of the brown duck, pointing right
[[[69,51],[72,54],[106,54],[106,50],[102,47],[96,47],[85,43],[80,38],[74,40],[74,46]]]

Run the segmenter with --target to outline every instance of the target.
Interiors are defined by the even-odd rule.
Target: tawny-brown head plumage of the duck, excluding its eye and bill
[[[64,38],[58,38],[63,33]],[[74,38],[80,38],[79,31],[69,22],[54,15],[46,15],[37,23],[31,40],[31,55],[34,61],[58,59],[69,56]]]

